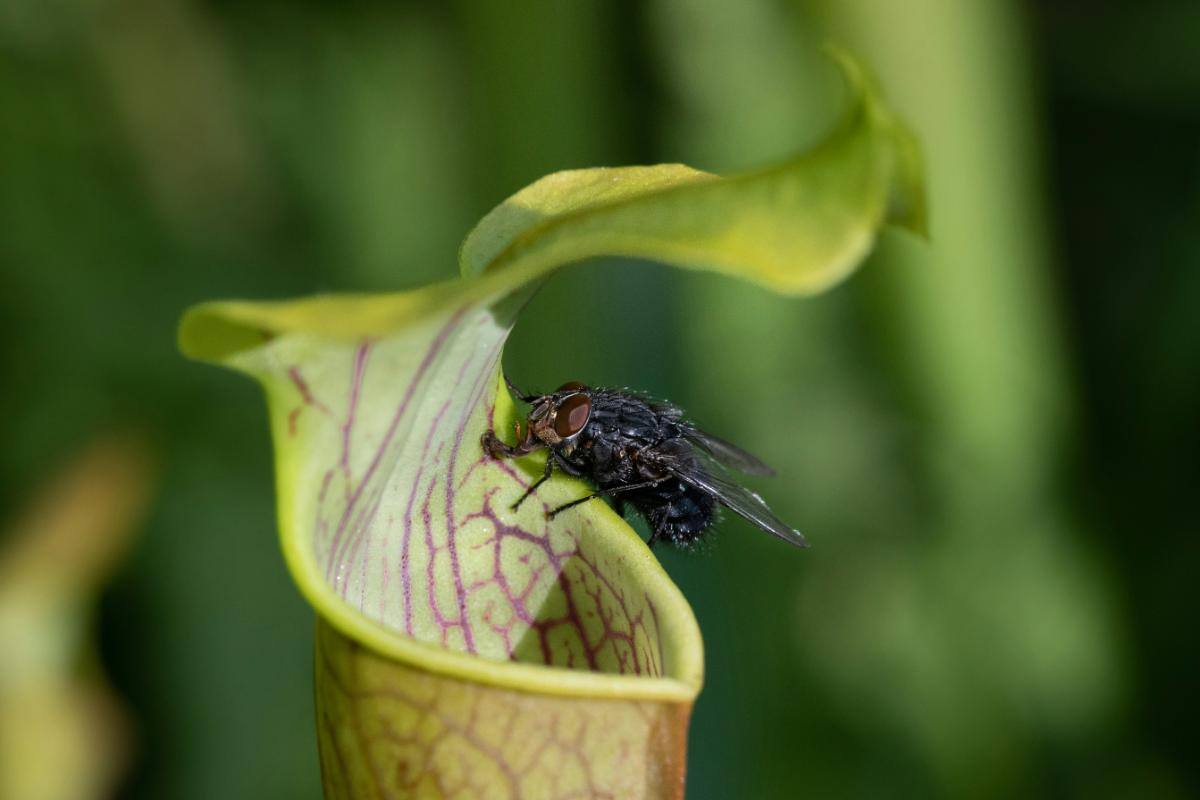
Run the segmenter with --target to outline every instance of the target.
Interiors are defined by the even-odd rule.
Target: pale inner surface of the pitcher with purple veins
[[[590,512],[550,522],[552,482],[520,513],[529,475],[487,458],[509,326],[470,307],[388,338],[299,349],[286,441],[300,453],[296,524],[329,585],[418,639],[491,658],[662,675],[649,597],[598,543]]]

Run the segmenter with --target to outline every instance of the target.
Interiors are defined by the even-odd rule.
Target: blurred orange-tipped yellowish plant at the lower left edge
[[[149,498],[137,441],[95,443],[35,498],[0,552],[0,798],[110,796],[128,722],[90,646],[96,593]]]

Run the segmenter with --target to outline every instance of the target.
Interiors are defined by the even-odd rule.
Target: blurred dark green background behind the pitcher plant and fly
[[[815,545],[662,554],[707,643],[688,796],[1200,793],[1195,2],[4,0],[0,519],[100,433],[158,456],[98,613],[121,796],[320,793],[263,403],[182,308],[450,277],[553,170],[798,150],[827,40],[918,130],[931,246],[811,301],[572,269],[505,359],[674,399]]]

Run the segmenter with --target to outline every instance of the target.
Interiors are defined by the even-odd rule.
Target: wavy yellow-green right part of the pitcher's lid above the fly
[[[884,217],[924,234],[912,136],[863,67],[830,54],[856,102],[814,150],[722,179],[680,164],[550,175],[467,236],[463,276],[503,270],[510,281],[528,281],[563,264],[628,255],[812,294],[858,265]]]

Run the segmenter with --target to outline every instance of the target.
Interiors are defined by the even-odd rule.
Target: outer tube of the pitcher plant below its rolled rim
[[[689,704],[557,697],[438,675],[317,631],[325,796],[683,796]]]

